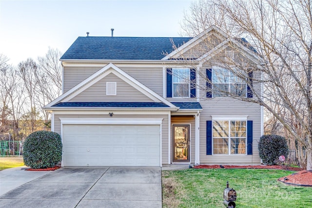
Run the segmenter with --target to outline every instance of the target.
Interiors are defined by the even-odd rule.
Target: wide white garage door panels
[[[64,166],[160,166],[159,125],[63,125]]]

